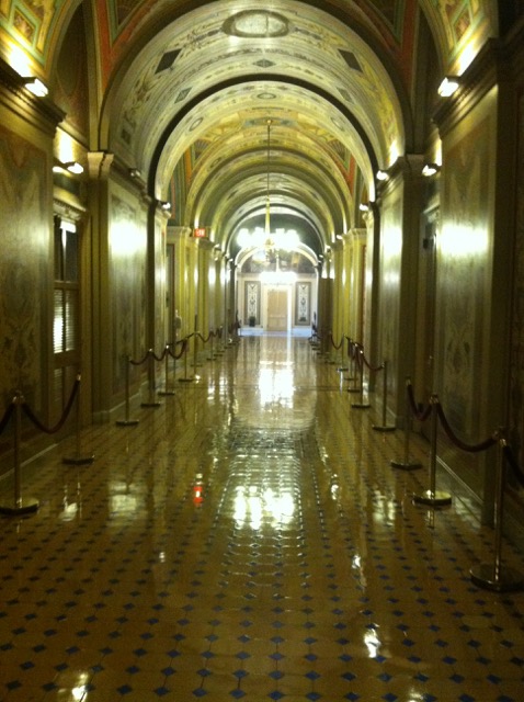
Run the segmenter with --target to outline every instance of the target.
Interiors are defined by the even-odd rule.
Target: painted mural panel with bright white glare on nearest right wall
[[[446,154],[437,260],[441,401],[455,430],[474,440],[490,309],[489,139],[486,117]]]

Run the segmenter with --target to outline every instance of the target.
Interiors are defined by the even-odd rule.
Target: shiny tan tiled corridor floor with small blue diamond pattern
[[[456,496],[413,503],[402,432],[306,338],[197,372],[86,430],[93,463],[65,464],[67,440],[24,466],[39,509],[0,518],[0,700],[522,702],[524,593],[471,582],[493,533]]]

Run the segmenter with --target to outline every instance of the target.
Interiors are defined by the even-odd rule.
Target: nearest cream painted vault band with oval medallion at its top
[[[310,8],[300,16],[296,10],[230,15],[227,8],[212,16],[203,10],[191,13],[166,27],[136,57],[117,91],[121,110],[112,122],[118,132],[111,135],[110,148],[117,150],[123,141],[122,149],[132,149],[135,162],[147,170],[151,145],[189,100],[249,73],[285,75],[330,90],[348,100],[379,160],[387,161],[392,141],[402,149],[402,120],[391,81],[369,47],[348,27]],[[264,32],[270,38],[261,38]]]

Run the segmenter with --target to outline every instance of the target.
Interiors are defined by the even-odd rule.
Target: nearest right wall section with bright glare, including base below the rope
[[[501,356],[490,355],[495,110],[495,95],[488,94],[443,141],[435,389],[454,433],[467,444],[490,437],[503,419],[498,417],[495,421],[489,411],[489,383],[493,374],[502,372]],[[482,496],[485,455],[458,450],[444,434],[440,455],[476,495]]]

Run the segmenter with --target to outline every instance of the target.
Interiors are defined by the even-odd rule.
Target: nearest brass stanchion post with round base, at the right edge
[[[524,588],[523,576],[502,565],[502,528],[504,516],[504,488],[505,488],[505,439],[504,430],[499,430],[497,476],[494,494],[494,553],[492,564],[479,564],[470,569],[471,580],[475,585],[495,592],[513,592]]]

